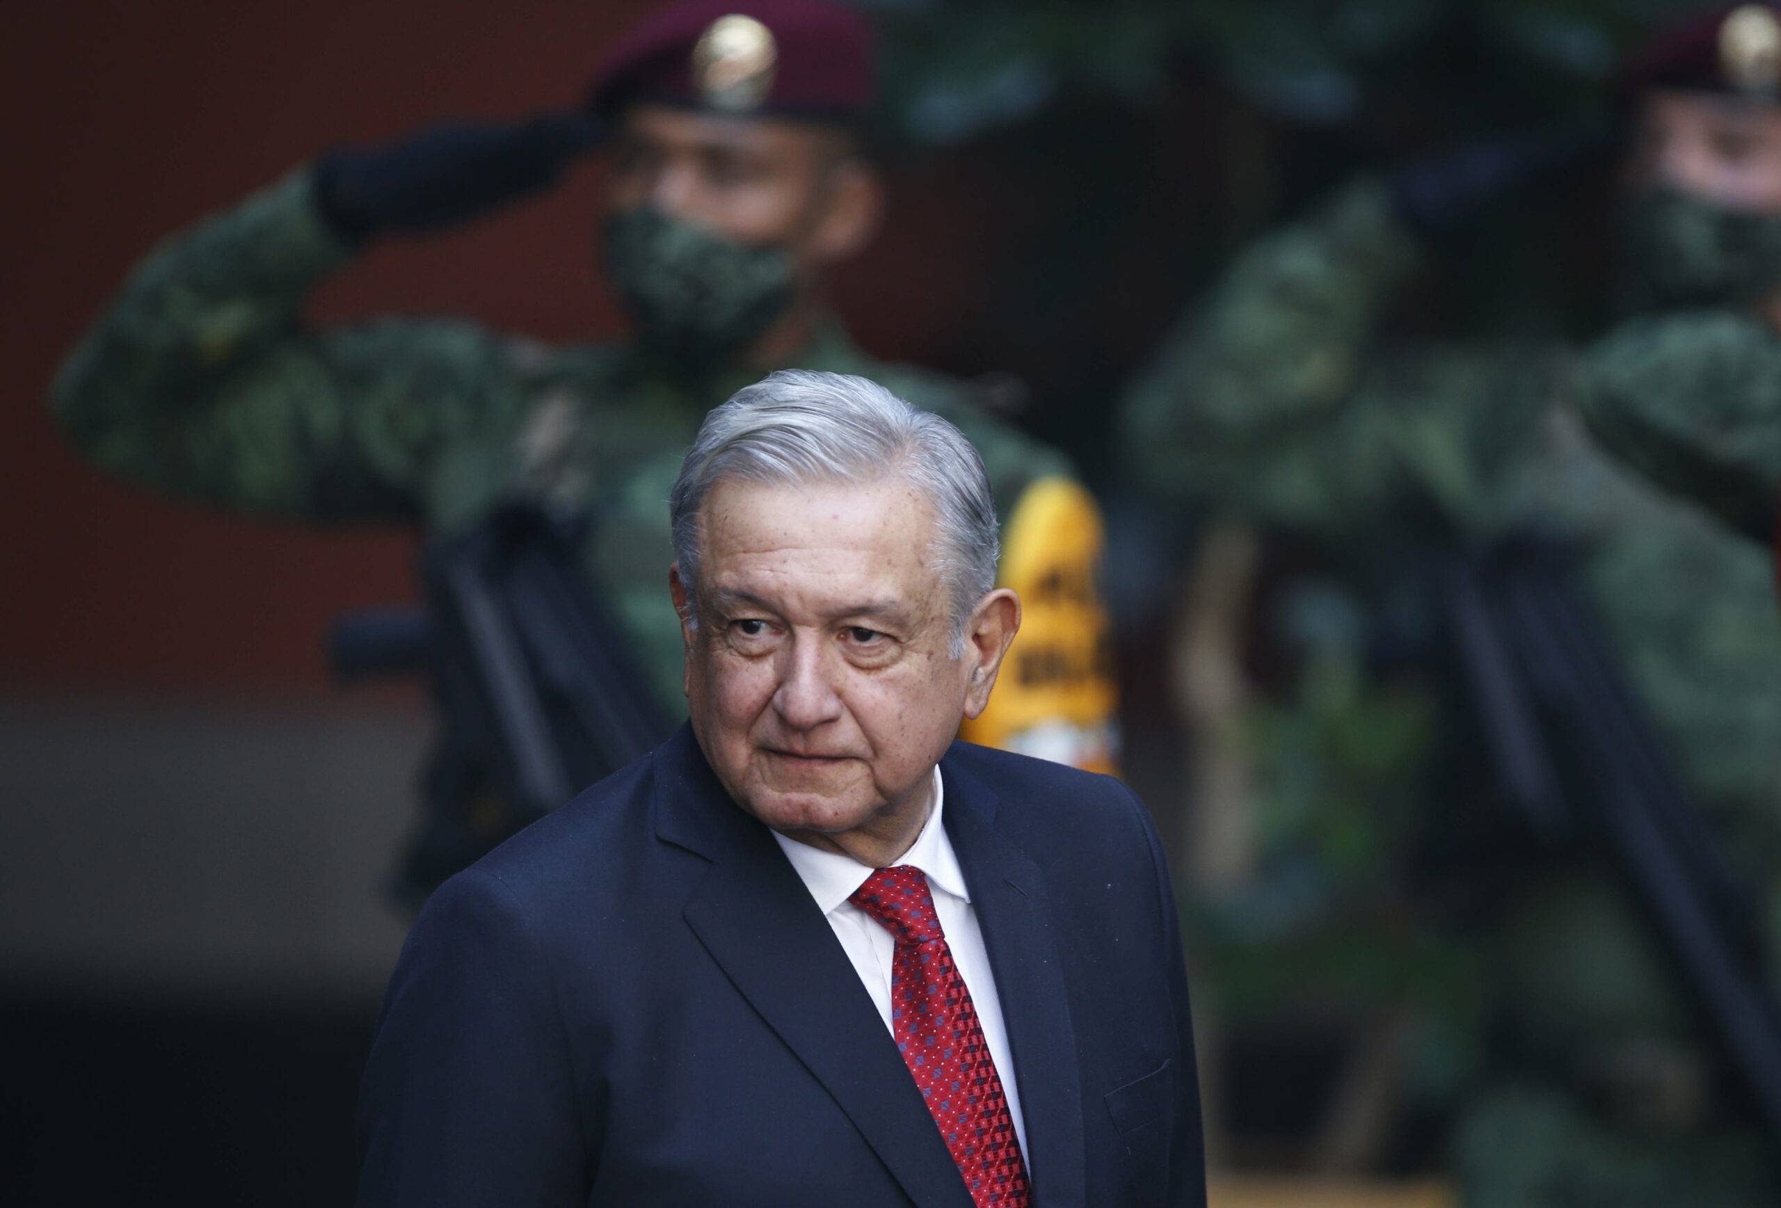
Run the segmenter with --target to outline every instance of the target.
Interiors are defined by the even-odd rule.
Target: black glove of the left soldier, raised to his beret
[[[554,183],[598,141],[598,123],[579,112],[445,123],[376,148],[329,151],[315,164],[315,201],[351,240],[424,231]]]

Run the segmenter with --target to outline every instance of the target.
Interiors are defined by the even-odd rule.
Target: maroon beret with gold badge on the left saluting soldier
[[[825,0],[682,0],[613,43],[588,103],[851,121],[873,96],[873,32],[858,12]]]

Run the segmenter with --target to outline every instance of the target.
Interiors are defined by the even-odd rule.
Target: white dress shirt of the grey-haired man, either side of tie
[[[940,781],[940,769],[933,769],[933,809],[928,822],[915,836],[915,843],[903,852],[898,865],[914,865],[928,879],[933,893],[933,913],[946,932],[946,945],[953,950],[953,964],[965,978],[971,991],[971,1005],[978,1009],[978,1023],[983,1025],[983,1043],[988,1044],[990,1060],[996,1062],[996,1076],[1001,1078],[1003,1094],[1008,1099],[1008,1117],[1013,1121],[1013,1135],[1021,1142],[1021,1155],[1026,1155],[1026,1124],[1021,1119],[1021,1091],[1013,1080],[1013,1059],[1008,1053],[1008,1028],[1001,1018],[1001,1000],[996,996],[996,975],[990,973],[990,957],[983,948],[983,930],[978,927],[978,913],[971,909],[971,891],[965,888],[965,875],[958,868],[958,856],[953,854],[953,842],[946,838],[940,825],[940,806],[946,799],[946,785]],[[825,852],[789,840],[778,831],[773,833],[791,866],[798,870],[803,886],[816,898],[817,909],[835,929],[835,939],[842,952],[853,961],[853,970],[866,984],[866,993],[873,996],[873,1005],[885,1021],[885,1030],[896,1035],[890,1025],[890,957],[896,952],[896,938],[885,927],[857,907],[848,898],[866,884],[873,868],[842,856]]]

